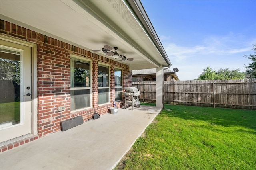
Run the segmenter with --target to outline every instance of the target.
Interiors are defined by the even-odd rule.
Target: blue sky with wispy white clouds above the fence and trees
[[[141,0],[180,80],[240,69],[256,44],[256,0]],[[245,65],[244,65],[245,64]]]

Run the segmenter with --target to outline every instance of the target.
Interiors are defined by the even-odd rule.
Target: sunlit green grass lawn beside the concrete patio
[[[255,110],[165,108],[116,170],[256,169]]]

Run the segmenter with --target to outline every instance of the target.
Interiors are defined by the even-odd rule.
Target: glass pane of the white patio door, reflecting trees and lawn
[[[0,127],[20,123],[20,52],[0,49]]]

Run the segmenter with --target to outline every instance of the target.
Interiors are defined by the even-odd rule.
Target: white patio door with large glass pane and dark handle
[[[31,133],[31,48],[0,41],[0,142]]]

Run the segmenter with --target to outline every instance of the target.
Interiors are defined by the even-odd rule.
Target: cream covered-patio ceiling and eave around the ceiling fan
[[[1,0],[0,14],[2,20],[88,51],[118,47],[118,54],[134,58],[120,61],[130,70],[171,65],[140,1]]]

